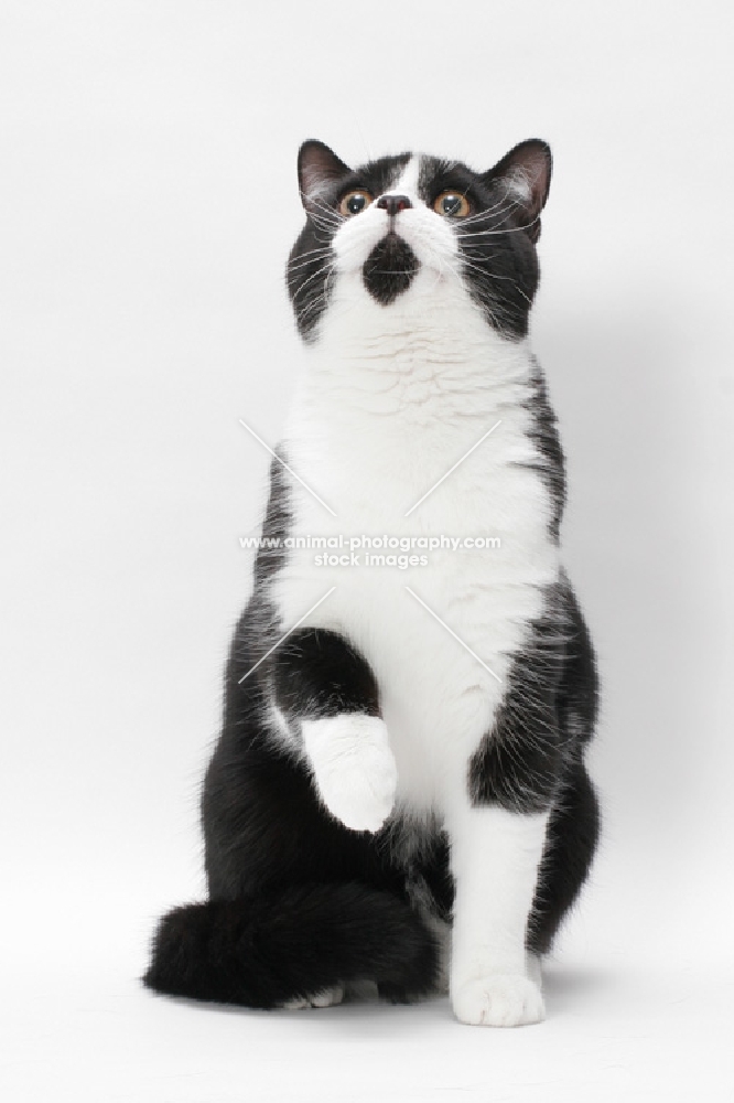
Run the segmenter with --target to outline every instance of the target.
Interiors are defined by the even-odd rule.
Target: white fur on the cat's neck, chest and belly
[[[428,557],[406,569],[367,565],[368,548],[350,566],[325,565],[314,548],[291,549],[272,596],[289,627],[334,587],[304,623],[343,633],[365,656],[380,688],[398,801],[441,811],[492,725],[542,587],[557,578],[558,552],[546,486],[528,465],[538,457],[525,405],[527,345],[497,336],[446,289],[430,325],[417,324],[412,295],[404,298],[389,325],[378,304],[364,304],[358,317],[336,311],[310,352],[283,447],[336,516],[292,481],[290,534],[490,537],[499,546],[376,553]],[[380,312],[379,338],[369,336],[373,311]]]

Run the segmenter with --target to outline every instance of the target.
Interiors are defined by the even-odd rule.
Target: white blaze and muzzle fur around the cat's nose
[[[419,194],[420,156],[413,156],[386,195],[407,195],[412,206],[395,216],[395,229],[410,245],[421,266],[435,275],[446,274],[458,243],[447,218],[428,206]],[[358,215],[347,218],[334,236],[337,272],[358,272],[375,246],[388,232],[389,215],[377,200]]]

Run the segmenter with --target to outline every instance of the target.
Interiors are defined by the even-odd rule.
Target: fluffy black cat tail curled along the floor
[[[415,998],[438,974],[438,940],[409,904],[349,882],[175,908],[160,921],[143,983],[271,1009],[360,981],[395,1000]]]

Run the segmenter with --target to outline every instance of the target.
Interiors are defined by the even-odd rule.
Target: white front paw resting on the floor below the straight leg
[[[454,989],[451,1003],[456,1018],[471,1026],[519,1027],[546,1017],[540,988],[521,975],[467,981]]]

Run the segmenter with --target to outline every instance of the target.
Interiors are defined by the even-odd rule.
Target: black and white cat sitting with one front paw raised
[[[594,655],[528,343],[550,172],[536,140],[484,173],[301,148],[304,371],[204,786],[209,900],[161,921],[159,992],[447,986],[464,1022],[543,1016],[540,956],[598,833]],[[296,539],[355,535],[431,550],[367,566]]]

